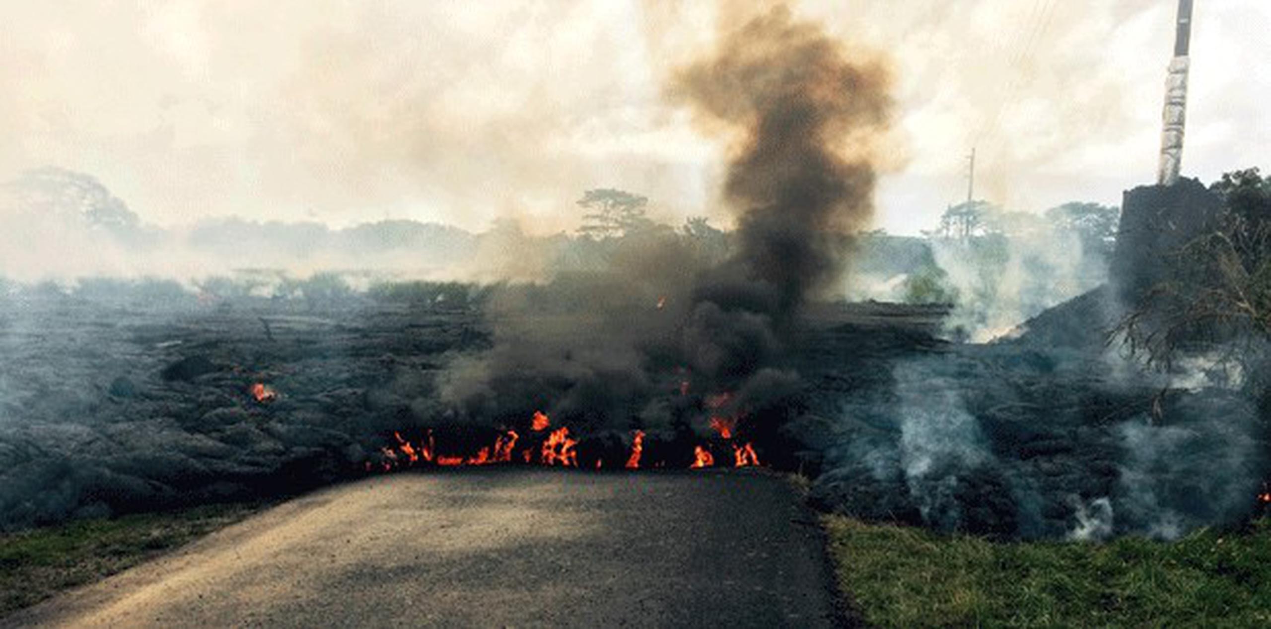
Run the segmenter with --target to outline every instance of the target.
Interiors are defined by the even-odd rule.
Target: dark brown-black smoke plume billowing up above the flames
[[[887,88],[880,64],[784,8],[723,34],[666,93],[730,142],[733,257],[714,263],[674,238],[628,235],[606,273],[506,288],[488,313],[493,347],[444,377],[456,409],[446,419],[524,429],[548,408],[583,437],[639,428],[656,443],[708,435],[726,414],[744,436],[771,433],[761,424],[797,389],[780,366],[796,316],[871,219]],[[707,408],[730,391],[728,408]]]

